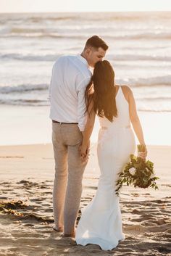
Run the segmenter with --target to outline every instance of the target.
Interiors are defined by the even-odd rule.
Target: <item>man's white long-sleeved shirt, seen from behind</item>
[[[54,63],[49,86],[50,118],[86,126],[85,90],[91,80],[88,62],[81,55],[62,56]]]

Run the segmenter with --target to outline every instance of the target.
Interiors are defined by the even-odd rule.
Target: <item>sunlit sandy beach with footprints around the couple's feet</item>
[[[52,230],[54,158],[51,144],[0,146],[1,256],[171,255],[171,146],[148,146],[159,190],[123,186],[120,196],[125,241],[112,251],[77,246]],[[84,174],[80,208],[96,193],[96,144]],[[80,218],[80,212],[78,220]]]

